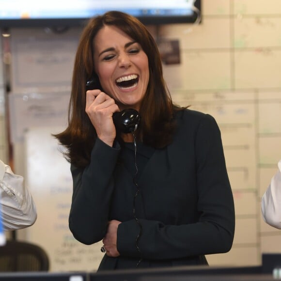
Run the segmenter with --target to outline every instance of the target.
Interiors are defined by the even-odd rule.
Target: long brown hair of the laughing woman
[[[115,26],[138,42],[148,57],[149,82],[141,102],[141,125],[138,140],[155,148],[163,148],[172,141],[173,112],[179,108],[172,104],[171,95],[163,79],[162,63],[156,42],[147,28],[134,16],[110,11],[89,20],[82,31],[76,53],[72,91],[68,110],[67,128],[54,135],[66,148],[65,158],[76,167],[90,162],[96,132],[86,108],[86,82],[95,76],[94,38],[104,26]]]

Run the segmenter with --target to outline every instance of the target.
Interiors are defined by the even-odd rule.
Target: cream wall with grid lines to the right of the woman
[[[164,64],[164,76],[176,103],[212,114],[222,133],[236,231],[232,250],[208,261],[258,265],[262,252],[281,250],[280,231],[266,225],[260,212],[281,158],[281,1],[203,0],[202,6],[202,24],[159,28],[160,38],[180,44],[181,63]],[[2,111],[0,121],[5,137]],[[0,153],[5,148],[1,145]],[[21,151],[17,143],[19,173]]]

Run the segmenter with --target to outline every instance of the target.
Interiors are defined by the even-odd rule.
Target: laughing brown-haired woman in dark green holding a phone
[[[124,133],[114,116],[125,109],[141,119]],[[172,103],[156,42],[135,17],[111,11],[85,27],[69,124],[56,138],[71,163],[69,228],[81,243],[103,241],[99,270],[207,265],[205,254],[231,249],[219,127]]]

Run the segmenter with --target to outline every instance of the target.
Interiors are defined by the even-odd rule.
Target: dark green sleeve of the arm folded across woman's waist
[[[117,230],[117,249],[121,255],[148,259],[177,259],[194,255],[227,252],[234,239],[234,200],[230,187],[219,127],[205,115],[195,136],[198,190],[195,223],[165,225],[140,219],[122,222]],[[184,210],[183,210],[184,211]],[[171,210],[172,212],[172,210]]]

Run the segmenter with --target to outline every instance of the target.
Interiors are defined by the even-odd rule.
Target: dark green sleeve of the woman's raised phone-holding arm
[[[71,165],[73,195],[69,228],[81,243],[96,243],[106,234],[114,188],[112,174],[119,153],[118,143],[110,147],[97,138],[90,164],[84,170]]]

